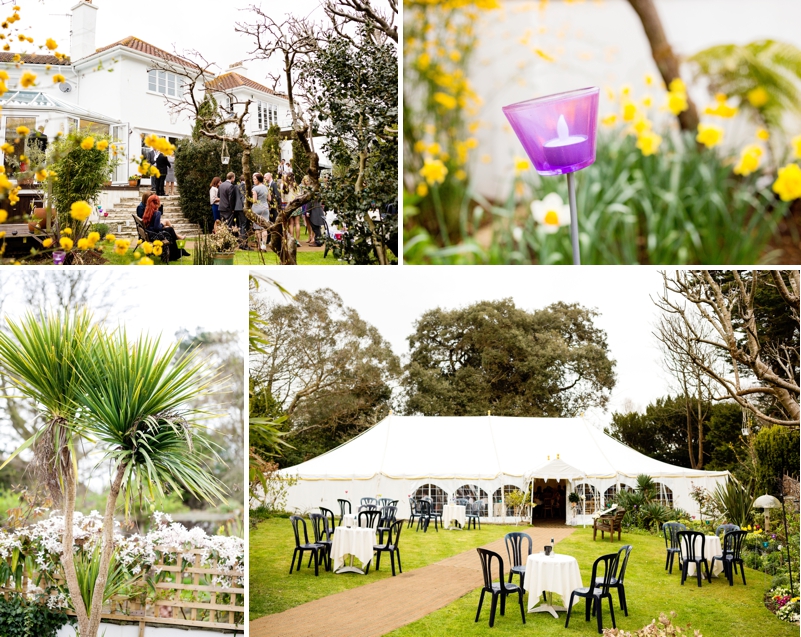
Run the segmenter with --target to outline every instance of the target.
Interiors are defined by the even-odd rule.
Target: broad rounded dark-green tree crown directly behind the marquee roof
[[[528,312],[512,299],[426,312],[409,337],[408,413],[558,417],[603,407],[615,362],[596,316],[575,303]]]

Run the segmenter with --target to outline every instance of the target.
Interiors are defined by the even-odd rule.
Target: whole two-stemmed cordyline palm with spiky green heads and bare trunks
[[[113,553],[114,511],[122,494],[126,514],[137,496],[162,495],[165,486],[215,502],[223,486],[208,468],[215,457],[189,402],[210,391],[216,376],[194,352],[176,357],[177,345],[158,339],[130,342],[109,333],[87,311],[27,315],[0,333],[0,365],[34,399],[46,424],[14,454],[33,446],[39,475],[63,503],[64,576],[78,619],[78,634],[94,637]],[[94,585],[79,582],[73,556],[73,517],[79,440],[105,452],[113,475],[103,518]],[[12,456],[13,457],[13,456]],[[91,588],[91,602],[84,595]]]

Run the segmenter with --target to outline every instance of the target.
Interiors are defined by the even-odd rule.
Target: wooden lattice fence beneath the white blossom
[[[234,584],[242,573],[218,568],[214,561],[203,565],[206,552],[202,549],[157,550],[161,554],[158,562],[132,586],[137,592],[113,597],[103,608],[103,619],[138,623],[140,637],[147,624],[243,629],[245,589]],[[36,580],[33,574],[32,581]],[[0,591],[7,596],[27,592],[27,588],[25,577],[19,588],[9,580],[0,586]]]

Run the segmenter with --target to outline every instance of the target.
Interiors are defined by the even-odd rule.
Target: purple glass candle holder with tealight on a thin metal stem
[[[540,175],[567,175],[573,264],[579,265],[573,173],[595,162],[597,87],[546,95],[503,107],[503,114]]]

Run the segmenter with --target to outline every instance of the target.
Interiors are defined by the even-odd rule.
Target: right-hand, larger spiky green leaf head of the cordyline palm
[[[217,460],[191,401],[221,379],[195,350],[176,356],[158,339],[131,343],[124,330],[94,344],[85,365],[79,417],[106,449],[105,460],[124,466],[126,513],[137,494],[164,495],[184,489],[214,503],[225,489],[211,473]]]

